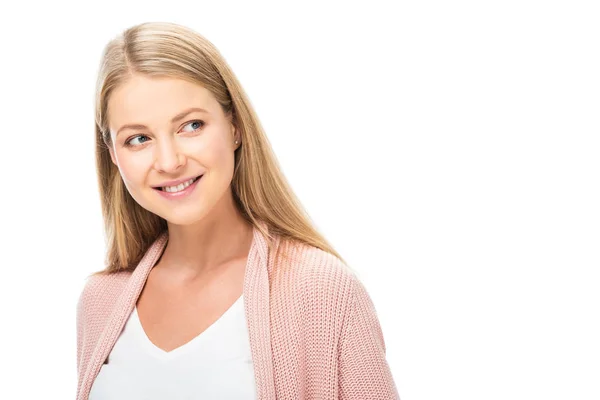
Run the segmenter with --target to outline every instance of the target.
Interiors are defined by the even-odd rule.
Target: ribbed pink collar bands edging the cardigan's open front
[[[268,233],[266,223],[259,221]],[[279,237],[273,235],[275,248]],[[146,283],[150,270],[155,266],[168,242],[168,232],[163,232],[148,248],[124,286],[115,302],[108,322],[100,335],[85,372],[81,399],[87,399],[92,383],[98,375],[104,360],[114,347],[125,323],[133,311]],[[257,226],[253,226],[253,239],[248,253],[244,273],[244,313],[250,337],[250,350],[255,366],[254,378],[259,400],[275,400],[273,360],[271,357],[269,271],[273,268],[273,257],[269,257],[267,239]],[[259,366],[259,367],[258,367]]]

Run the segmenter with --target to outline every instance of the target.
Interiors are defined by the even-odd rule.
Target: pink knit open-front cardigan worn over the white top
[[[88,399],[167,240],[167,232],[156,239],[133,272],[86,281],[77,304],[77,400]],[[257,399],[399,399],[363,284],[325,251],[278,236],[275,243],[290,262],[269,254],[254,228],[244,276]]]

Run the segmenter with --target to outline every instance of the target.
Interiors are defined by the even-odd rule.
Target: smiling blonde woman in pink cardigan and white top
[[[369,295],[205,38],[107,45],[96,162],[107,267],[77,306],[77,399],[398,398]]]

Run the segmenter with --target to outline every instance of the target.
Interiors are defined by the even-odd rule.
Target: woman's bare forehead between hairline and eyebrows
[[[111,93],[109,125],[114,129],[127,123],[164,124],[185,108],[201,107],[213,114],[218,106],[212,93],[199,84],[135,75]]]

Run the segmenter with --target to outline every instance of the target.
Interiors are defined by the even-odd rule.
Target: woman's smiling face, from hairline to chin
[[[188,225],[229,193],[240,138],[204,87],[176,78],[134,75],[112,92],[108,116],[112,161],[131,196],[148,211]],[[156,189],[199,175],[202,178],[185,196],[165,196]]]

